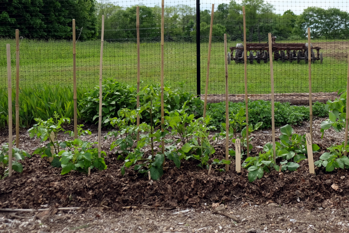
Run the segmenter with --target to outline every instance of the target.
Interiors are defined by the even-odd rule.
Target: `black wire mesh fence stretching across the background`
[[[54,2],[58,2],[59,6]],[[307,27],[311,28],[311,43],[316,58],[312,63],[313,102],[334,99],[337,96],[335,92],[345,87],[349,50],[347,1],[201,0],[199,8],[196,7],[197,3],[196,0],[165,1],[165,82],[169,86],[181,85],[192,93],[204,94],[211,4],[214,3],[209,102],[224,101],[224,59],[228,59],[224,57],[224,33],[227,33],[230,52],[229,98],[230,101],[244,100],[244,64],[243,60],[236,59],[241,57],[241,54],[236,54],[236,47],[243,43],[242,5],[246,7],[247,44],[253,43],[255,46],[251,45],[252,48],[247,52],[250,99],[270,100],[270,67],[268,59],[263,59],[264,51],[267,50],[257,47],[267,48],[268,33],[272,32],[276,37],[273,46],[284,46],[277,51],[278,54],[272,54],[275,100],[294,104],[309,103],[306,50],[291,46],[297,44],[302,47],[307,43]],[[78,4],[70,0],[44,0],[35,7],[25,1],[21,4],[14,5],[13,1],[0,3],[1,10],[8,16],[1,19],[0,88],[7,87],[6,43],[11,44],[12,85],[15,85],[13,37],[16,28],[22,36],[20,87],[34,87],[40,83],[72,85],[72,18],[76,19],[77,28],[78,87],[92,88],[98,85],[102,14],[105,15],[103,79],[113,78],[135,85],[136,5],[140,5],[142,85],[160,82],[160,0],[85,0]],[[35,8],[36,11],[26,7],[31,10]],[[50,12],[61,18],[53,17]],[[196,37],[198,28],[199,40]],[[199,53],[196,49],[198,44]],[[316,47],[320,47],[319,54]]]

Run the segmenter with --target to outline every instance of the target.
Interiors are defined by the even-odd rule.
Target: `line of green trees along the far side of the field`
[[[221,3],[214,12],[213,41],[227,33],[230,40],[243,38],[242,6],[246,11],[248,41],[265,41],[269,32],[278,39],[312,37],[345,39],[349,34],[349,13],[338,8],[308,7],[300,15],[292,10],[275,13],[274,5],[264,0],[235,0]],[[71,20],[81,31],[81,40],[96,39],[105,15],[105,39],[128,40],[137,37],[136,6],[122,7],[96,0],[3,0],[0,2],[0,37],[13,37],[19,29],[27,38],[71,39]],[[210,10],[200,11],[200,36],[205,41],[210,28]],[[184,4],[165,7],[165,38],[170,41],[196,40],[196,8]],[[140,5],[142,41],[160,40],[161,7]],[[77,32],[79,35],[79,31]]]

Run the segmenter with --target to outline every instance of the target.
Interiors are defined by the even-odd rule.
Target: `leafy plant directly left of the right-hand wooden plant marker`
[[[285,125],[280,128],[281,136],[280,142],[276,142],[276,156],[284,160],[293,159],[294,162],[299,163],[305,160],[308,155],[306,147],[306,136],[293,133],[293,128],[290,125]],[[313,152],[320,150],[316,144],[312,145]]]

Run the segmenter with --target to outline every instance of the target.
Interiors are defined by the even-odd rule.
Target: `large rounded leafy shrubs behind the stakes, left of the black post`
[[[160,85],[146,85],[139,93],[140,106],[145,105],[150,100],[145,98],[149,90],[154,92],[154,102],[160,102],[161,89]],[[145,93],[147,92],[147,93]],[[103,82],[103,107],[102,122],[104,126],[109,123],[109,118],[117,117],[117,112],[121,108],[130,110],[136,109],[137,104],[137,88],[116,82],[114,79],[108,79]],[[194,95],[185,92],[182,88],[172,90],[170,87],[164,88],[164,110],[165,113],[180,109],[184,102],[187,101],[189,111],[194,114],[202,115],[202,101],[199,98],[193,98]],[[99,115],[99,87],[95,87],[93,91],[86,93],[86,97],[80,102],[82,108],[81,114],[85,121],[98,123]],[[160,119],[160,108],[154,109],[154,122]],[[150,123],[150,114],[145,112],[142,115],[143,121]]]

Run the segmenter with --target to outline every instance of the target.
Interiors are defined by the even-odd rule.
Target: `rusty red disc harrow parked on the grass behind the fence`
[[[275,43],[276,37],[272,37],[272,51],[274,54],[274,60],[285,61],[297,61],[300,63],[301,60],[304,60],[308,63],[308,43]],[[320,53],[321,47],[313,47],[311,45],[311,59],[312,62],[320,60],[320,63],[323,63],[323,54]],[[253,64],[253,60],[256,60],[257,63],[264,61],[267,63],[270,54],[269,54],[269,44],[268,43],[247,43],[246,50],[247,61],[250,61]],[[316,53],[315,51],[316,50]],[[230,53],[228,53],[228,63],[230,61],[235,61],[235,63],[244,62],[244,47],[242,43],[236,44],[235,47],[230,47]]]

